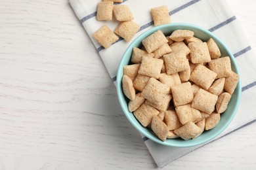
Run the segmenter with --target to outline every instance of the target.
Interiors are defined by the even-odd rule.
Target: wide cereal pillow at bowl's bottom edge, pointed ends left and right
[[[202,129],[193,122],[188,122],[184,126],[174,131],[176,135],[179,135],[184,140],[195,138],[198,134],[202,133]]]

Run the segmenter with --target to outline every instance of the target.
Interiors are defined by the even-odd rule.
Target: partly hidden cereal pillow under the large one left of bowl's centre
[[[160,103],[152,103],[148,100],[145,101],[146,104],[160,110],[160,111],[165,111],[168,109],[169,105],[170,105],[170,101],[172,99],[172,96],[171,94],[161,94],[162,95],[162,99],[161,99],[161,102]]]

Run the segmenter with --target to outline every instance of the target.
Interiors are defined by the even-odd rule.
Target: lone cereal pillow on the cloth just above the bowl
[[[151,14],[155,26],[171,23],[168,7],[166,5],[151,9]]]

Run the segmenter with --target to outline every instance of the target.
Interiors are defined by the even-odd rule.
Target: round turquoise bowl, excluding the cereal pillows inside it
[[[121,108],[123,109],[123,112],[125,113],[125,116],[131,122],[131,124],[143,135],[148,137],[148,139],[155,141],[156,143],[160,143],[163,145],[167,146],[175,146],[175,147],[190,147],[190,146],[196,146],[198,144],[204,144],[207,143],[208,141],[211,141],[211,139],[217,137],[226,127],[232,119],[234,118],[236,111],[238,110],[238,106],[240,103],[240,96],[242,92],[241,88],[241,82],[239,80],[238,86],[236,87],[236,90],[234,91],[232,98],[230,100],[230,103],[228,104],[228,108],[224,113],[221,114],[221,120],[219,124],[214,127],[211,130],[204,131],[202,135],[200,135],[196,139],[190,139],[187,141],[184,141],[183,139],[167,139],[166,141],[161,141],[150,129],[147,129],[146,127],[143,127],[139,121],[133,116],[132,112],[129,112],[128,110],[128,102],[129,99],[125,97],[123,94],[122,86],[121,86],[121,80],[123,76],[123,66],[124,65],[129,65],[130,60],[131,60],[131,54],[133,52],[133,47],[141,47],[142,46],[142,40],[154,33],[155,31],[161,30],[165,35],[170,35],[173,31],[176,29],[188,29],[191,31],[194,31],[194,36],[198,37],[199,39],[202,39],[202,41],[207,41],[209,38],[212,38],[217,45],[219,46],[221,50],[221,56],[229,56],[232,64],[232,71],[235,73],[238,73],[238,66],[236,65],[236,61],[230,50],[226,47],[226,45],[213,33],[203,29],[202,27],[198,27],[196,25],[191,25],[191,24],[165,24],[165,25],[160,25],[158,27],[154,27],[152,29],[149,29],[148,31],[142,33],[135,39],[135,41],[131,42],[125,53],[123,54],[123,58],[121,59],[119,63],[119,68],[117,70],[117,78],[116,78],[116,84],[117,84],[117,96],[119,99],[119,103],[121,105]]]

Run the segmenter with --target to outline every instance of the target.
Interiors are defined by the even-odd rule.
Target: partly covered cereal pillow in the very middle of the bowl
[[[181,79],[178,73],[173,75],[167,75],[166,73],[161,73],[159,76],[159,80],[161,83],[166,84],[167,86],[175,86],[177,84],[181,84]]]

